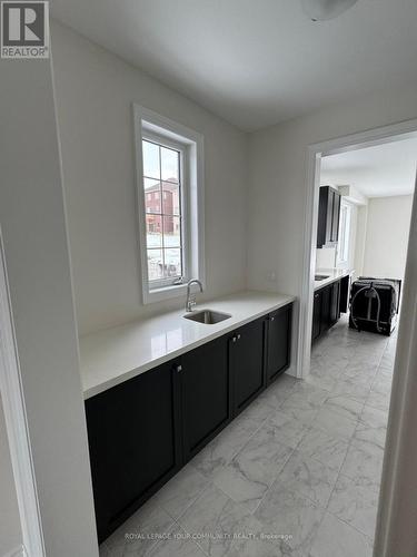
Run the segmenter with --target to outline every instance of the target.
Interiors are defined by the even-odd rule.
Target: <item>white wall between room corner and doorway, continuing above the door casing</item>
[[[417,85],[335,105],[251,135],[248,199],[250,287],[300,295],[307,146],[415,117]],[[268,271],[271,270],[276,272],[276,282],[268,281]]]

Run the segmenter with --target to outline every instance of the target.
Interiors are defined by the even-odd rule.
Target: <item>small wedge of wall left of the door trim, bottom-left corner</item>
[[[0,397],[0,555],[21,546],[22,534]]]

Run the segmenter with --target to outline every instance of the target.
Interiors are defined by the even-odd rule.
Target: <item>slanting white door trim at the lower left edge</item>
[[[22,555],[44,557],[32,453],[0,229],[0,392],[22,530]]]

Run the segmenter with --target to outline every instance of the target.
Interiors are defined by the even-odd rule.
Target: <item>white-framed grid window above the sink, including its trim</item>
[[[143,303],[203,282],[202,137],[133,106]]]

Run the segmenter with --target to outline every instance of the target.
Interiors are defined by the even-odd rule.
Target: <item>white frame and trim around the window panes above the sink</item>
[[[202,135],[133,102],[137,166],[137,205],[140,250],[142,302],[149,304],[182,296],[187,281],[198,278],[206,287],[205,275],[205,212],[203,212],[203,138]],[[182,214],[182,284],[160,281],[149,287],[146,203],[143,188],[142,140],[149,139],[181,153]]]

